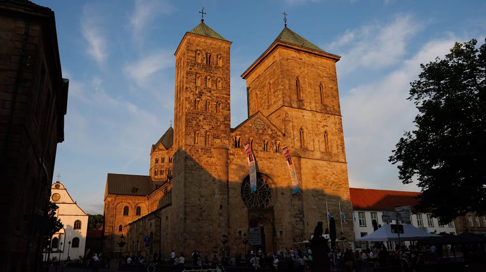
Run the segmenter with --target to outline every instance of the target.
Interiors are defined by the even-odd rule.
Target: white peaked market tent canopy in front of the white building
[[[403,233],[400,234],[401,241],[415,241],[427,237],[438,237],[431,233],[427,233],[417,227],[410,224],[403,224]],[[377,229],[375,232],[366,235],[364,237],[356,238],[356,241],[368,241],[368,242],[379,242],[379,241],[398,241],[398,234],[392,233],[391,225],[383,225],[381,228]]]

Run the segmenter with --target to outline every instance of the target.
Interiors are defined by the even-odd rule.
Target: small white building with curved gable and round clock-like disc
[[[64,227],[51,238],[51,245],[44,253],[44,259],[48,256],[58,260],[83,259],[85,256],[86,234],[88,227],[88,215],[76,204],[69,195],[68,190],[59,181],[52,184],[51,202],[59,208],[56,217],[61,220]]]

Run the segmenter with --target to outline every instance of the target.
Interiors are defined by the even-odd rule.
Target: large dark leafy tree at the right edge
[[[456,43],[444,59],[421,64],[410,97],[419,114],[389,161],[403,184],[421,187],[416,209],[448,223],[486,209],[486,43]]]

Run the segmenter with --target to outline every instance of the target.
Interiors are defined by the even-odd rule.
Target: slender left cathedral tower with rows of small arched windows
[[[227,232],[230,45],[201,22],[175,51],[172,200],[181,248],[218,246]]]

